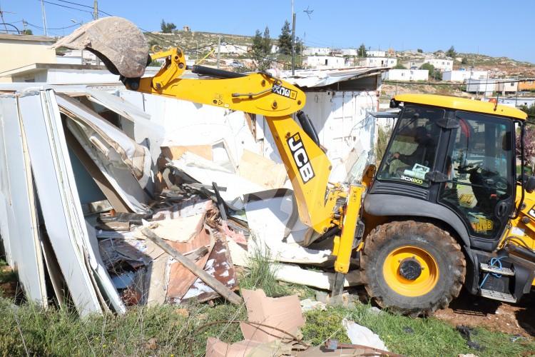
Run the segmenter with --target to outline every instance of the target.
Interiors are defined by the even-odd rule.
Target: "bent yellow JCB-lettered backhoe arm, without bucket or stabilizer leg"
[[[165,59],[158,74],[124,79],[128,89],[265,116],[292,181],[301,221],[318,233],[334,226],[340,187],[328,183],[330,161],[319,143],[310,137],[315,135],[313,130],[307,133],[292,118],[297,113],[307,121],[300,111],[306,101],[303,91],[265,73],[239,74],[203,66],[188,67],[183,51],[178,48],[151,55],[151,60],[156,59]],[[201,79],[184,78],[187,69]]]

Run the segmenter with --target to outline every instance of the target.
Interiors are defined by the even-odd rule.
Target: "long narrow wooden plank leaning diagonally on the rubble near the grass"
[[[162,238],[156,236],[153,231],[149,228],[143,228],[141,231],[144,236],[149,238],[154,243],[158,244],[166,253],[168,253],[170,256],[175,258],[177,261],[180,261],[180,263],[183,264],[186,268],[188,268],[192,273],[194,273],[196,276],[198,276],[202,281],[208,284],[210,288],[213,288],[215,291],[220,293],[223,298],[227,299],[231,303],[234,303],[235,305],[239,305],[240,303],[243,303],[243,299],[235,294],[233,291],[231,291],[229,288],[223,285],[223,283],[220,283],[216,278],[213,276],[210,276],[210,274],[203,271],[202,268],[199,268],[198,266],[193,263],[189,258],[183,256],[179,251],[171,247],[168,243],[166,243]]]

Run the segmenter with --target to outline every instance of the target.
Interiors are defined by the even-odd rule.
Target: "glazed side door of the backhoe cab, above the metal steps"
[[[514,202],[514,124],[464,111],[449,137],[437,200],[462,218],[472,246],[491,250],[499,241]]]

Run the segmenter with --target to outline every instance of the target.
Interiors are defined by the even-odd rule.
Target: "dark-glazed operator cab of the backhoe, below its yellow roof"
[[[426,100],[432,97],[439,96]],[[394,199],[400,215],[447,220],[447,208],[451,221],[457,216],[447,223],[464,226],[472,246],[490,250],[514,208],[514,120],[462,106],[404,104],[370,194],[407,196]],[[414,198],[442,208],[418,207]]]

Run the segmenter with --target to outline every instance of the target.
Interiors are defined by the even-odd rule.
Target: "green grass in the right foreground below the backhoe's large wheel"
[[[477,356],[532,356],[535,351],[533,339],[511,341],[506,333],[477,328],[472,341],[484,346],[476,351],[467,346],[454,326],[437,318],[409,318],[382,311],[377,314],[370,306],[357,303],[352,308],[328,307],[327,311],[310,311],[305,314],[307,323],[303,328],[305,341],[315,346],[327,338],[349,342],[342,328],[342,318],[348,318],[377,333],[389,350],[407,356],[457,356],[459,353],[474,353]]]

